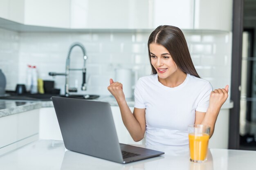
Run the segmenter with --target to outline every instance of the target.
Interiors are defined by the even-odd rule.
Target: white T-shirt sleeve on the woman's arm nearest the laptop
[[[135,85],[134,89],[134,107],[135,108],[146,108],[145,102],[143,100],[143,86],[141,85],[141,79],[139,79]]]

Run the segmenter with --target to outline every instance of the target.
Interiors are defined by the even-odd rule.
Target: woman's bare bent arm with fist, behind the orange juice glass
[[[220,108],[222,104],[224,104],[224,102],[227,100],[228,91],[228,85],[222,89],[215,89],[211,92],[207,112],[195,112],[195,124],[204,124],[209,126],[211,128],[210,137],[213,135],[215,123],[220,112]]]

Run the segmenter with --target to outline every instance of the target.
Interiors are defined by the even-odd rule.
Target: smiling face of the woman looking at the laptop
[[[149,51],[151,64],[157,71],[159,78],[166,79],[178,70],[169,51],[164,46],[151,43],[149,44]]]

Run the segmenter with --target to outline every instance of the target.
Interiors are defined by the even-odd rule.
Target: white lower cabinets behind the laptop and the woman
[[[220,110],[214,134],[209,141],[209,148],[228,148],[229,108],[233,107],[233,103],[229,105],[226,107],[222,106]],[[132,112],[133,109],[133,107],[130,107]],[[111,110],[119,142],[123,144],[145,144],[145,138],[139,142],[133,141],[124,126],[119,107],[111,106]],[[54,107],[40,108],[39,113],[39,139],[63,140]]]

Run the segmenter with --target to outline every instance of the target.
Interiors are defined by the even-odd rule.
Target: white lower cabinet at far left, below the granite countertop
[[[0,155],[38,139],[39,109],[0,117]]]

